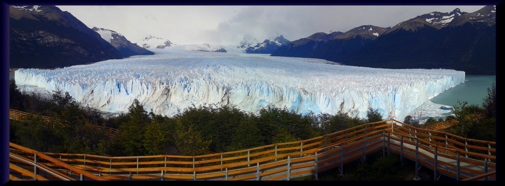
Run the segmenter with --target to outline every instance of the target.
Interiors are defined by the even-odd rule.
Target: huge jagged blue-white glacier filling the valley
[[[396,120],[465,81],[465,72],[448,69],[367,68],[182,46],[149,50],[155,55],[54,70],[19,69],[15,79],[21,85],[68,91],[83,106],[110,113],[127,112],[137,99],[147,111],[165,116],[217,104],[252,113],[273,106],[360,118],[366,118],[370,107]]]

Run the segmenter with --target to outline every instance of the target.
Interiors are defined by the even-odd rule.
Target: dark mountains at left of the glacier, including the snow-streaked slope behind
[[[9,15],[10,68],[57,68],[154,54],[117,32],[92,30],[56,6],[10,6]]]

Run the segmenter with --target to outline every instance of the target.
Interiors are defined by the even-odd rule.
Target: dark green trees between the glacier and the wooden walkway
[[[495,108],[495,98],[484,108],[493,108],[493,104]],[[456,118],[467,115],[472,107],[464,104],[460,113],[455,107]],[[147,112],[137,100],[126,114],[103,118],[96,110],[72,101],[68,92],[22,94],[13,79],[10,81],[10,108],[37,115],[11,120],[10,141],[13,143],[42,152],[108,156],[228,152],[310,139],[383,120],[378,110],[373,109],[368,110],[367,119],[362,119],[345,113],[300,115],[287,108],[271,107],[253,114],[233,106],[216,105],[193,106],[166,117]],[[60,123],[47,123],[41,116],[60,119]],[[109,137],[93,125],[116,128],[120,132]]]

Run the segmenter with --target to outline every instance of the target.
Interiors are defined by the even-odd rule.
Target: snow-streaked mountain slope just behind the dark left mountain
[[[100,34],[104,40],[109,42],[114,48],[121,52],[122,56],[131,55],[152,55],[154,52],[148,51],[145,48],[139,47],[136,44],[128,41],[122,34],[117,33],[113,30],[97,28],[91,25],[87,25],[88,28]]]

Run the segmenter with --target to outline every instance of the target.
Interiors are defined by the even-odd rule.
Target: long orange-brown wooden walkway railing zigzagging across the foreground
[[[318,172],[334,167],[342,172],[346,162],[387,150],[434,169],[435,174],[459,180],[485,174],[488,169],[495,170],[495,146],[495,142],[466,139],[385,120],[302,141],[200,156],[44,154],[107,179],[289,180],[317,176]],[[25,152],[15,145],[11,145],[11,151]],[[437,160],[436,152],[445,161]],[[460,163],[463,164],[460,166]],[[54,162],[44,165],[60,166]],[[495,175],[490,176],[493,178]]]

